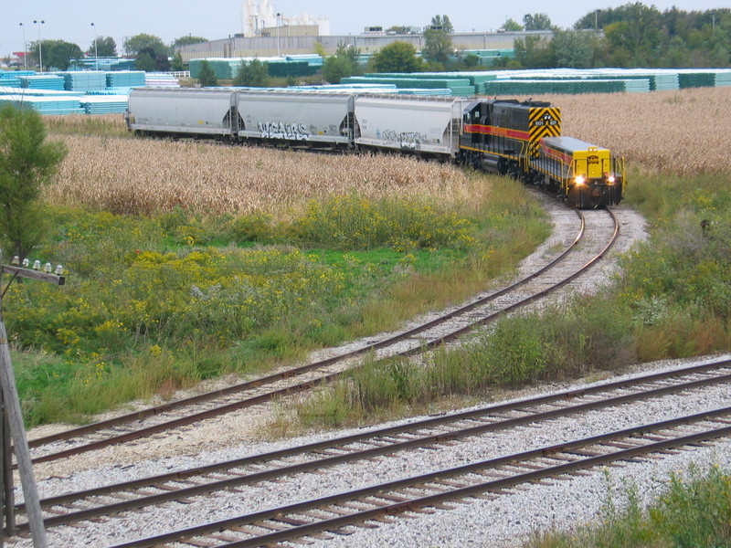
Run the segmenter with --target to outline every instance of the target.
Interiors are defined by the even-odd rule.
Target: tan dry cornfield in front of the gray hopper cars
[[[470,181],[456,167],[416,158],[315,154],[211,142],[64,136],[69,155],[48,200],[150,214],[181,206],[208,213],[282,213],[353,189],[367,197],[459,200]]]

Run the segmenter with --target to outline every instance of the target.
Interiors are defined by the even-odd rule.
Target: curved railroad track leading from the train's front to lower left
[[[609,251],[619,235],[619,222],[611,211],[595,210],[586,212],[586,215],[568,208],[566,211],[567,215],[577,216],[576,237],[573,242],[558,257],[502,290],[494,291],[408,331],[397,333],[380,342],[366,344],[353,352],[215,392],[150,407],[85,427],[72,428],[52,436],[29,439],[32,460],[34,463],[48,462],[151,437],[274,398],[309,390],[314,385],[340,376],[344,370],[358,364],[366,353],[374,353],[377,358],[408,355],[453,341],[478,326],[567,285]],[[590,237],[586,237],[587,225],[591,230]],[[556,274],[558,269],[560,274]]]

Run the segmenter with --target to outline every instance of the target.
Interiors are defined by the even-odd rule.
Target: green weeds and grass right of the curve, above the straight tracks
[[[321,426],[333,426],[332,417],[353,425],[450,400],[459,406],[504,387],[731,349],[731,184],[667,174],[631,179],[627,202],[650,219],[652,237],[621,258],[623,274],[609,289],[500,320],[489,335],[426,365],[372,364],[316,396],[320,406],[346,407],[323,416]],[[389,387],[394,367],[404,384],[397,391]],[[303,427],[318,421],[307,402],[282,413]]]

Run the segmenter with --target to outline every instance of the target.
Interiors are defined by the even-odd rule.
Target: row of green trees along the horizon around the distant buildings
[[[408,34],[406,26],[389,30]],[[686,12],[676,7],[660,11],[641,2],[620,7],[592,10],[571,28],[554,26],[543,13],[526,14],[523,22],[505,21],[501,30],[545,30],[551,37],[527,36],[514,42],[514,56],[497,58],[491,66],[454,47],[454,28],[449,16],[433,16],[423,31],[424,46],[418,52],[406,42],[395,41],[383,47],[370,61],[376,72],[418,72],[491,68],[726,68],[731,66],[731,8]],[[141,70],[183,70],[183,59],[176,49],[206,42],[203,37],[180,37],[165,45],[159,37],[139,34],[124,41],[124,54],[136,59]],[[67,69],[74,58],[83,57],[76,44],[63,40],[31,43],[30,52],[39,58],[42,46],[44,65]],[[360,51],[340,45],[324,58],[323,79],[339,82],[346,76],[363,72]],[[117,55],[111,37],[100,37],[87,49],[88,56]],[[244,81],[261,78],[261,68],[243,68]],[[247,84],[251,85],[251,84]]]

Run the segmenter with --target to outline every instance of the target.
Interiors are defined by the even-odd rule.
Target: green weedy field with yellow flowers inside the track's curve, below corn
[[[280,222],[50,207],[55,231],[37,256],[62,263],[67,284],[5,295],[28,424],[266,371],[483,289],[548,233],[519,184],[495,184],[489,204],[353,194]],[[350,214],[338,227],[339,207]],[[381,232],[364,240],[354,216]]]

